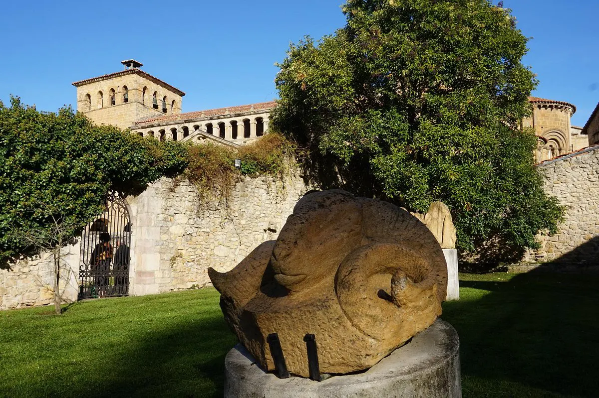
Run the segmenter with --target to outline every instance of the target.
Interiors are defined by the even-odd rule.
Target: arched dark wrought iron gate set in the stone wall
[[[79,299],[129,295],[131,221],[124,198],[110,192],[102,215],[81,234]]]

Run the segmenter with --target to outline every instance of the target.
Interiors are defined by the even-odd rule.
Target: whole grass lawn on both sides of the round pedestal
[[[443,318],[464,397],[599,396],[599,277],[461,275]],[[1,397],[220,397],[235,344],[213,289],[0,312]]]

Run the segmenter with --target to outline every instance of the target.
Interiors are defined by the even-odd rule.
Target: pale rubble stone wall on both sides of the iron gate
[[[128,197],[131,217],[131,295],[210,283],[208,267],[231,270],[265,240],[276,239],[308,188],[301,177],[244,178],[228,199],[199,201],[187,182],[163,178]],[[80,246],[65,248],[63,300],[77,299]],[[23,259],[0,270],[0,310],[52,304],[52,257]],[[66,287],[66,288],[65,288]]]

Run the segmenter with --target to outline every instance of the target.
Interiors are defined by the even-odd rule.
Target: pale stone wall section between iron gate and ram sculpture
[[[246,177],[228,200],[202,204],[187,182],[153,184],[129,201],[137,214],[132,293],[205,286],[209,267],[231,270],[256,246],[276,239],[307,191],[298,176]]]

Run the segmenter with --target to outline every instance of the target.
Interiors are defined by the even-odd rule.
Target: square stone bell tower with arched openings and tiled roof
[[[121,62],[125,70],[74,82],[77,111],[96,124],[128,128],[135,121],[178,115],[183,91],[141,71],[140,62]]]

